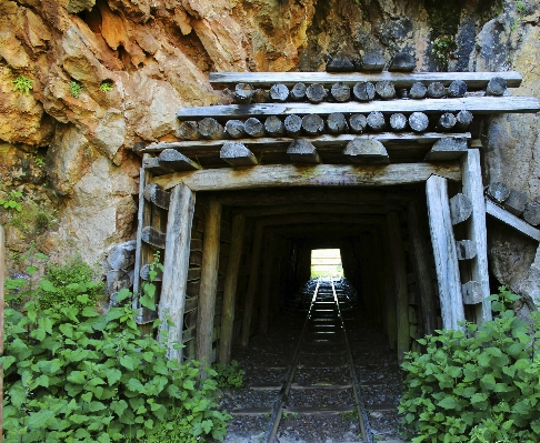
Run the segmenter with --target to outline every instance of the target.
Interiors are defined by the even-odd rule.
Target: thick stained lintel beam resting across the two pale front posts
[[[269,164],[243,169],[212,169],[177,172],[153,179],[163,189],[184,183],[193,191],[227,191],[284,187],[386,187],[422,183],[437,174],[460,180],[457,163],[392,163],[392,164]]]

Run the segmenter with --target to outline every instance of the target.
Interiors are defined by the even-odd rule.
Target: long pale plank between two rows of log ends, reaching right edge
[[[181,108],[177,112],[180,120],[193,120],[213,117],[218,119],[248,119],[262,115],[318,114],[329,115],[341,112],[343,103],[259,103],[259,104],[220,104],[214,107]],[[500,114],[510,112],[538,112],[540,101],[534,97],[466,97],[462,99],[388,100],[369,103],[349,102],[350,113],[394,112],[426,114],[469,111],[473,114]]]

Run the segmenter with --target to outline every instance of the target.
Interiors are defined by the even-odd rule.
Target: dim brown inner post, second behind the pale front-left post
[[[221,316],[221,336],[219,340],[218,361],[229,364],[231,361],[232,330],[237,305],[237,285],[240,261],[242,258],[246,217],[236,214],[232,218],[231,249],[227,263],[223,288],[223,313]]]

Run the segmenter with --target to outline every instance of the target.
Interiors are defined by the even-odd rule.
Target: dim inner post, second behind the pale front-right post
[[[396,311],[398,318],[398,360],[401,363],[404,353],[409,351],[409,295],[407,293],[407,269],[401,239],[401,225],[399,213],[390,211],[387,213],[388,240],[390,256],[393,265],[393,281],[396,289]]]

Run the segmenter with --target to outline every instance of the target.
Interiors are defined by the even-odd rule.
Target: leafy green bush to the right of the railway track
[[[500,288],[492,321],[467,324],[468,334],[437,331],[419,340],[427,353],[407,354],[399,412],[412,443],[540,440],[540,315],[516,318],[518,299]]]

